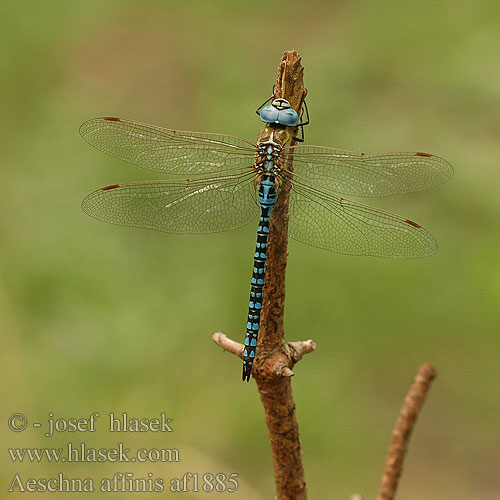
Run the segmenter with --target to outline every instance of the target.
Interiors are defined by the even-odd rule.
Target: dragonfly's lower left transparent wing
[[[253,172],[214,178],[130,182],[89,194],[82,209],[96,219],[168,233],[215,233],[259,213]]]

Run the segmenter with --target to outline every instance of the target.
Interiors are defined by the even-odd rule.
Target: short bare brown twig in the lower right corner
[[[389,453],[387,454],[377,500],[392,500],[394,498],[415,421],[435,376],[436,370],[428,363],[423,364],[418,369],[417,376],[403,402],[396,425],[392,431],[391,444],[389,445]]]

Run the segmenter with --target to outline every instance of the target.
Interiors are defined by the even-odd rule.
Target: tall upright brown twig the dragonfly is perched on
[[[306,95],[303,75],[304,68],[297,52],[285,52],[278,69],[274,96],[287,99],[299,115]],[[296,136],[296,128],[291,132]],[[286,168],[293,170],[293,165],[289,163]],[[316,346],[311,340],[285,342],[283,315],[288,257],[288,189],[285,184],[282,186],[271,215],[264,303],[252,374],[265,410],[274,463],[276,500],[305,500],[306,483],[300,453],[299,424],[290,378],[294,364]],[[221,333],[214,334],[213,340],[223,349],[241,357],[242,344]]]

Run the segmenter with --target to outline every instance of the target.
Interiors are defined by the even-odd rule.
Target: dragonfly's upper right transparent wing
[[[293,146],[296,174],[334,193],[388,196],[420,191],[445,182],[453,167],[429,153],[356,153],[321,146]]]

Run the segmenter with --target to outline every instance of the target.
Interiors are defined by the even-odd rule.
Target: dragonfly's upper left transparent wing
[[[210,175],[253,164],[256,146],[230,135],[183,132],[121,118],[94,118],[80,127],[92,146],[155,172]]]

